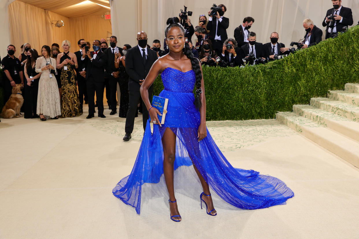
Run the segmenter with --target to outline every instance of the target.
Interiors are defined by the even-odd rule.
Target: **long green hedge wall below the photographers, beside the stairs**
[[[277,111],[309,104],[359,82],[359,27],[335,39],[264,65],[203,67],[207,120],[273,119]],[[154,95],[163,90],[158,77]]]

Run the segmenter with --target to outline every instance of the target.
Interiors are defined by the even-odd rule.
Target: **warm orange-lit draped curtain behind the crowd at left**
[[[25,42],[40,53],[41,46],[51,46],[52,43],[59,44],[62,51],[61,43],[67,39],[71,43],[70,51],[75,52],[78,51],[79,39],[83,38],[92,45],[93,40],[106,39],[108,32],[112,32],[111,21],[105,20],[102,15],[67,18],[18,0],[9,5],[8,12],[10,41],[6,44],[15,45],[16,56],[21,53],[20,46]],[[55,27],[53,23],[57,20],[63,20],[64,26]]]

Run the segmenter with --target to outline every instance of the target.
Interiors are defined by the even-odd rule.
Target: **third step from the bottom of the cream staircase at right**
[[[312,98],[311,106],[359,122],[359,107],[328,98]]]

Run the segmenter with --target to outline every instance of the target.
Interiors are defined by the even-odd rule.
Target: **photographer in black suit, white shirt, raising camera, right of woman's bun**
[[[217,12],[215,16],[210,15],[211,11],[208,11],[209,19],[206,28],[209,30],[208,38],[213,44],[213,49],[217,52],[217,55],[220,56],[223,43],[228,38],[227,28],[229,27],[229,19],[223,16],[227,8],[223,4],[219,4],[218,6],[222,8],[222,11]]]

